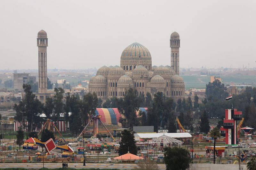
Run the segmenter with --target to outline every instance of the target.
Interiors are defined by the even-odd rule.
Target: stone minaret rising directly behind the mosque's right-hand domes
[[[171,67],[173,68],[175,74],[180,75],[180,35],[177,32],[171,34],[170,39],[171,48]]]

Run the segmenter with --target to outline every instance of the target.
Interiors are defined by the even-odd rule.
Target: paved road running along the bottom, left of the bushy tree
[[[83,163],[68,163],[69,168],[99,168],[99,169],[134,169],[136,164],[104,164],[104,163],[87,163],[83,166]],[[164,164],[159,164],[159,169],[165,170]],[[43,163],[1,163],[0,168],[42,168]],[[45,168],[58,168],[62,167],[62,163],[45,163]]]

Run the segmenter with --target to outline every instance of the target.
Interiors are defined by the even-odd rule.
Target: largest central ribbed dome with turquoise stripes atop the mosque
[[[149,50],[140,43],[132,43],[121,54],[120,66],[125,71],[132,71],[137,66],[144,66],[147,70],[151,70],[151,63]]]

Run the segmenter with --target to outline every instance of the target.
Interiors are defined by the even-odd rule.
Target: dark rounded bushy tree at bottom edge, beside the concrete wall
[[[164,148],[164,163],[167,170],[186,170],[189,167],[190,157],[186,149]]]

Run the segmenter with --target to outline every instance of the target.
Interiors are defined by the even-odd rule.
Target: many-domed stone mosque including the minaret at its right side
[[[152,96],[158,91],[175,101],[184,97],[185,85],[179,76],[180,35],[173,32],[170,38],[171,66],[152,66],[149,50],[140,43],[132,43],[121,54],[120,66],[102,66],[89,83],[89,92],[98,98],[124,97],[129,88],[137,95]]]

